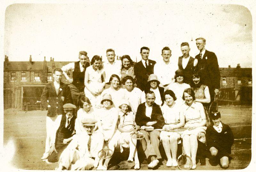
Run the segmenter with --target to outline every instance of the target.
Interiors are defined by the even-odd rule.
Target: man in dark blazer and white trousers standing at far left
[[[61,82],[62,71],[60,68],[53,70],[53,82],[49,82],[44,87],[41,95],[42,107],[47,109],[46,116],[46,142],[45,152],[42,160],[48,158],[50,143],[55,142],[56,131],[60,126],[63,105],[72,103],[72,97],[68,85]]]

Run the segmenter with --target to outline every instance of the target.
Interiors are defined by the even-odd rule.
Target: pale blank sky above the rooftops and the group
[[[9,61],[77,61],[79,51],[89,58],[106,58],[106,49],[140,61],[140,48],[149,58],[162,60],[161,50],[172,50],[171,60],[182,56],[188,42],[190,55],[199,53],[195,39],[204,37],[220,67],[252,67],[252,16],[242,5],[188,4],[160,1],[143,3],[11,4],[5,11],[4,55]]]

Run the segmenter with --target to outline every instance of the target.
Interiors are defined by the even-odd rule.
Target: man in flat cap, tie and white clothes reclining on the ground
[[[70,165],[71,170],[89,170],[98,166],[98,152],[103,146],[103,134],[94,131],[96,120],[84,119],[81,122],[85,131],[79,136],[73,136],[73,140],[60,155],[57,170],[69,169]]]

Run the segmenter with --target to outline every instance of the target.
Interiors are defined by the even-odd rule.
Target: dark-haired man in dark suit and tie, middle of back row
[[[148,87],[148,76],[154,73],[154,65],[156,62],[154,60],[149,60],[149,48],[142,47],[140,49],[141,61],[134,65],[134,74],[137,79],[137,87],[144,91]]]

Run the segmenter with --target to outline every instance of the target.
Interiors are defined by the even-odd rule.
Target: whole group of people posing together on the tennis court
[[[196,46],[200,52],[193,58],[189,44],[181,43],[183,56],[178,64],[170,60],[169,47],[162,49],[160,63],[148,59],[149,48],[142,47],[142,59],[136,64],[128,55],[115,60],[115,51],[107,49],[107,62],[97,55],[90,62],[87,52],[80,51],[78,62],[54,69],[54,81],[41,96],[42,106],[48,109],[41,159],[58,161],[59,170],[107,170],[112,153],[129,148],[127,161],[134,161],[138,170],[137,149],[141,148],[148,168],[155,168],[162,159],[162,143],[166,166],[177,167],[182,139],[192,169],[196,157],[205,165],[207,152],[213,162],[218,159],[221,167],[228,168],[232,131],[220,121],[220,112],[208,113],[220,88],[217,57],[205,49],[204,38],[197,38]],[[62,74],[70,85],[61,82]],[[172,132],[179,128],[186,130]],[[143,139],[132,137],[134,133]],[[102,151],[106,146],[108,151]]]

